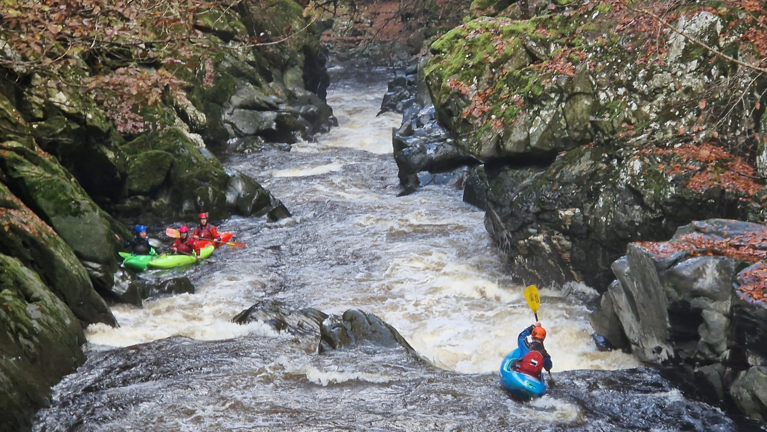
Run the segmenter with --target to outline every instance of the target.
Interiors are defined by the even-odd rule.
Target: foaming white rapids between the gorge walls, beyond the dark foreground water
[[[463,203],[460,190],[426,186],[397,196],[390,152],[400,115],[376,117],[381,82],[334,87],[328,102],[340,126],[318,142],[229,161],[268,187],[293,217],[225,221],[220,228],[235,232],[247,249],[218,249],[215,264],[194,269],[195,294],[114,307],[120,328],[91,325],[88,340],[120,347],[171,335],[266,335],[265,328],[229,320],[259,299],[278,298],[328,313],[373,312],[442,368],[497,370],[534,321],[522,287],[495,253],[482,211]],[[584,305],[558,291],[541,293],[538,315],[555,371],[637,365],[630,355],[596,350]]]

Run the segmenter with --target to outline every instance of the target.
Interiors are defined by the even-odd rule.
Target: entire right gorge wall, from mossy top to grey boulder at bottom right
[[[765,4],[721,6],[476,1],[474,18],[431,44],[384,108],[404,114],[393,146],[405,193],[469,166],[464,200],[486,210],[521,281],[607,292],[593,325],[614,345],[684,364],[764,417],[765,395],[746,384],[764,373],[753,347],[767,341],[752,331],[761,288],[741,300],[742,265],[706,262],[731,270],[708,295],[692,270],[703,262],[634,244],[700,219],[765,220]],[[719,231],[723,242],[740,232]],[[672,289],[673,265],[690,272]],[[744,325],[747,344],[736,337]]]

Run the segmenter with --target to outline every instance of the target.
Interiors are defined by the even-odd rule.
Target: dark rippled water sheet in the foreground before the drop
[[[272,431],[737,430],[718,408],[696,401],[653,368],[553,374],[549,396],[525,404],[505,394],[496,374],[433,368],[388,342],[308,353],[300,340],[306,328],[298,325],[314,327],[321,315],[311,318],[315,312],[273,302],[258,308],[254,318],[287,324],[281,335],[252,327],[251,335],[228,341],[174,337],[94,352],[55,387],[53,404],[38,414],[34,430],[123,424],[177,430],[189,407],[200,407],[195,421],[212,428]],[[360,329],[382,328],[351,313],[364,321]],[[351,328],[357,318],[348,320]],[[315,331],[307,336],[316,337]],[[226,409],[202,409],[221,406]]]

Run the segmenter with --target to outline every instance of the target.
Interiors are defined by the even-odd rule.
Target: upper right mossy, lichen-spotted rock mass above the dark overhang
[[[638,47],[651,35],[614,31],[621,17],[601,6],[568,5],[527,20],[481,17],[439,38],[425,74],[440,122],[480,160],[553,156],[627,134],[756,144],[748,130],[759,130],[759,95],[734,104],[745,84],[735,83],[732,63],[676,34],[658,42],[661,54],[648,54]],[[747,50],[721,36],[726,19],[690,11],[675,24],[720,51]],[[767,86],[756,71],[737,73]]]

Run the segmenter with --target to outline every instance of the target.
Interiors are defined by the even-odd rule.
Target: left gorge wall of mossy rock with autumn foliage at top
[[[334,123],[298,2],[53,3],[0,12],[0,411],[18,413],[2,430],[28,427],[84,361],[80,324],[116,324],[97,292],[115,284],[123,223],[288,216],[214,153]]]

